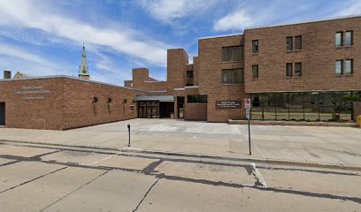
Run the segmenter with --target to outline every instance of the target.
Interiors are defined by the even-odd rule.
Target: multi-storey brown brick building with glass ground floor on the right
[[[361,95],[359,23],[354,16],[201,38],[193,64],[183,49],[169,49],[166,81],[138,68],[125,86],[153,92],[136,98],[138,117],[227,122],[245,118],[242,100],[250,98],[252,119],[352,121]]]

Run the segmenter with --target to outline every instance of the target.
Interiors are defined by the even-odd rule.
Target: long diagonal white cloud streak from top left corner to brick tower
[[[137,33],[134,33],[134,30],[120,27],[94,27],[56,13],[46,13],[44,11],[47,11],[47,5],[34,0],[12,0],[12,4],[0,0],[0,5],[0,26],[33,28],[65,41],[105,46],[150,64],[161,66],[166,64],[168,45],[136,39]]]

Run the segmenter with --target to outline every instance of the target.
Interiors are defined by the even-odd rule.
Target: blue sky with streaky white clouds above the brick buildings
[[[166,49],[192,63],[198,38],[360,13],[361,0],[0,0],[0,71],[77,76],[85,43],[92,80],[122,86],[137,67],[165,80]]]

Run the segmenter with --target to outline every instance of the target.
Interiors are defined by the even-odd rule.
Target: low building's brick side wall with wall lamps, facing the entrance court
[[[142,92],[88,81],[64,79],[64,128],[137,117],[136,108],[134,111],[129,110],[129,104],[133,103],[137,94]],[[92,103],[95,96],[98,102]],[[111,98],[111,103],[107,103],[108,98]],[[125,99],[127,99],[126,103],[124,103]]]

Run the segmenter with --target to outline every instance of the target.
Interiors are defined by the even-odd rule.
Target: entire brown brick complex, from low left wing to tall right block
[[[345,17],[201,38],[193,64],[184,49],[168,49],[165,81],[136,68],[125,87],[88,80],[83,48],[79,78],[1,79],[0,125],[65,130],[134,117],[227,122],[245,118],[245,98],[252,119],[355,121],[359,23],[361,16]]]

